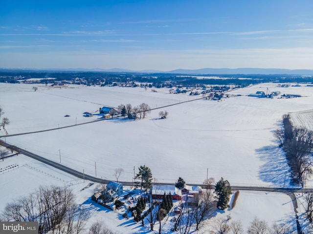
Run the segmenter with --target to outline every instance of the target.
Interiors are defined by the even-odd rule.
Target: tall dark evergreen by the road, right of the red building
[[[222,177],[215,185],[215,193],[219,197],[217,207],[221,210],[225,210],[231,195],[231,187],[228,180],[224,180]]]

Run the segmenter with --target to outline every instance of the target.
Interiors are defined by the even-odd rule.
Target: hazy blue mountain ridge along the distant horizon
[[[48,71],[48,72],[114,72],[114,73],[166,73],[166,74],[189,74],[189,75],[304,75],[313,76],[313,70],[309,69],[280,69],[280,68],[201,68],[201,69],[176,69],[171,71],[141,70],[134,71],[123,68],[68,68],[68,69],[19,69],[0,68],[0,71]]]

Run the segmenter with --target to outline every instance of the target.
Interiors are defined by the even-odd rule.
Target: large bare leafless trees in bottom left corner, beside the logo
[[[54,233],[58,228],[67,234],[78,234],[83,230],[84,215],[74,215],[74,224],[74,219],[69,218],[73,217],[75,207],[71,190],[56,186],[40,187],[35,193],[7,204],[2,217],[5,221],[36,221],[39,234]]]

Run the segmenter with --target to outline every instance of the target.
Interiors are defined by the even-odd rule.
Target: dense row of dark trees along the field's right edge
[[[290,116],[284,115],[283,126],[274,135],[286,153],[293,183],[304,186],[306,177],[313,173],[313,131],[292,126]]]

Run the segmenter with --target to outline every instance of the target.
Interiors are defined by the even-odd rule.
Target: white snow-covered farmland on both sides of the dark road
[[[73,85],[60,88],[37,85],[38,90],[34,92],[33,86],[0,83],[0,105],[5,112],[3,117],[8,117],[11,122],[5,127],[8,134],[96,120],[99,116],[83,117],[82,113],[95,113],[103,105],[116,107],[121,103],[131,103],[134,106],[145,102],[151,108],[156,108],[196,99],[153,110],[145,119],[108,119],[48,132],[6,137],[8,143],[56,162],[60,161],[61,153],[62,164],[81,172],[84,170],[92,176],[95,176],[95,163],[97,177],[106,179],[115,179],[114,169],[123,168],[125,172],[119,178],[121,181],[132,181],[134,168],[137,172],[137,168],[145,164],[151,168],[156,182],[174,183],[181,176],[188,184],[201,184],[208,169],[209,176],[216,180],[224,177],[231,185],[282,187],[287,177],[288,186],[289,168],[272,132],[281,124],[283,114],[310,110],[313,102],[313,87],[286,88],[277,87],[275,83],[230,91],[229,94],[241,96],[223,98],[222,101],[169,94],[167,89],[157,89],[160,92],[154,93],[151,89],[145,91],[139,87]],[[267,88],[303,97],[246,97],[256,91],[266,92]],[[158,112],[161,110],[168,111],[168,118],[159,119]],[[3,130],[0,131],[1,135],[5,135]],[[68,186],[72,183],[71,186],[80,191],[88,183],[84,184],[73,176],[56,172],[21,155],[0,161],[0,165],[7,163],[17,163],[19,168],[0,174],[1,187],[7,187],[1,195],[5,199],[1,199],[0,209],[11,198],[22,195],[20,188],[23,193],[28,193],[38,188],[39,184]],[[307,186],[312,185],[313,181],[307,183]],[[88,191],[91,193],[92,188]],[[79,202],[88,200],[87,190],[83,190],[83,193]],[[241,192],[236,208],[230,213],[234,220],[245,220],[245,226],[256,215],[271,223],[272,220],[294,216],[288,202],[290,198],[284,194]],[[274,204],[279,207],[275,208]],[[247,215],[248,210],[255,215]],[[110,220],[114,216],[110,214],[112,212],[105,210],[103,217]],[[123,223],[125,220],[119,221]],[[110,225],[110,221],[106,223]],[[111,224],[115,227],[116,220]],[[131,228],[128,230],[129,233],[136,233]],[[121,230],[119,232],[123,233]]]

